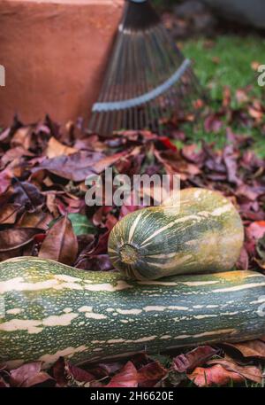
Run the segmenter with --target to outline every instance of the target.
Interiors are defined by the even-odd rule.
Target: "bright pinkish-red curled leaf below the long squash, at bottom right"
[[[196,386],[226,386],[231,381],[242,383],[245,380],[237,372],[228,371],[220,364],[208,368],[197,367],[191,374],[187,374],[187,378]]]

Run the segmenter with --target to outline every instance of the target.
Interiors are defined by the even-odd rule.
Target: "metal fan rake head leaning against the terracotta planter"
[[[191,66],[148,0],[127,0],[102,90],[88,129],[161,132],[172,113],[192,105],[201,88]]]

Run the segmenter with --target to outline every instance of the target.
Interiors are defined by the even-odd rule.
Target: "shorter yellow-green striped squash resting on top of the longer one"
[[[117,222],[109,254],[126,276],[155,280],[228,271],[243,240],[242,221],[228,199],[216,191],[186,189],[178,206],[144,208]]]

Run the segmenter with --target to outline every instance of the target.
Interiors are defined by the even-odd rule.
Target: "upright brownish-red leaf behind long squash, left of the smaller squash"
[[[77,237],[72,230],[72,222],[64,216],[47,232],[39,257],[72,265],[78,253]]]

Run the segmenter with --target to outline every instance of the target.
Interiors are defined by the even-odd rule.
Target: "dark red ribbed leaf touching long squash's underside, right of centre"
[[[193,370],[196,367],[203,365],[217,353],[218,350],[216,350],[214,347],[197,347],[191,352],[188,352],[186,354],[179,354],[177,357],[175,357],[173,359],[172,368],[179,373]]]

